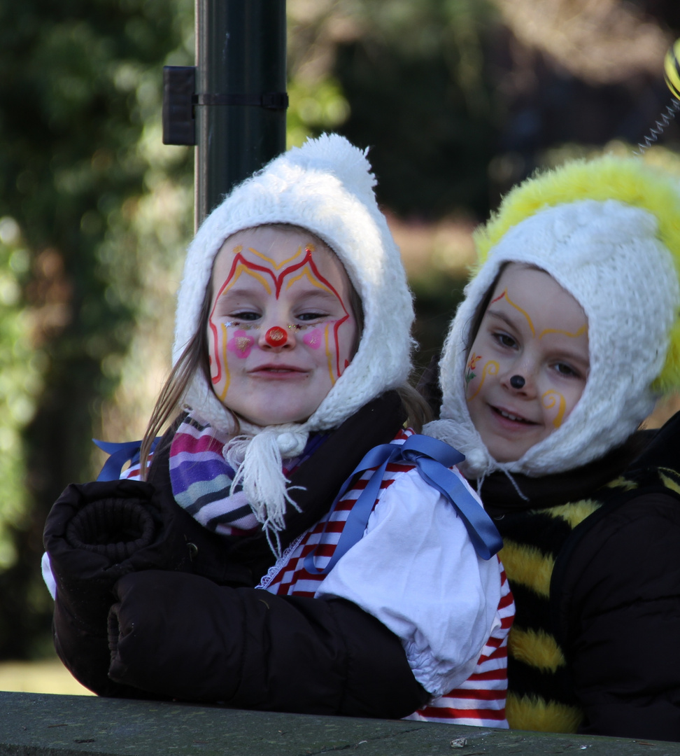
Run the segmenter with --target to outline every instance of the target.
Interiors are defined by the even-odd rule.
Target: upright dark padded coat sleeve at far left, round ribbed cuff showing
[[[143,695],[107,677],[113,586],[136,570],[223,572],[226,550],[203,548],[209,538],[214,536],[179,507],[164,506],[148,483],[92,482],[63,491],[45,522],[43,540],[56,583],[54,645],[79,682],[101,696]],[[194,552],[198,559],[192,559]]]

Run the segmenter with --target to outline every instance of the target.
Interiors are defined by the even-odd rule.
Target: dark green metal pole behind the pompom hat
[[[286,0],[196,0],[196,228],[286,149]]]

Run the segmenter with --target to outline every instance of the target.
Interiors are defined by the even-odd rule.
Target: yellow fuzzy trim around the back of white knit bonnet
[[[680,277],[680,184],[669,174],[637,158],[605,155],[576,160],[539,174],[512,189],[484,227],[474,232],[479,265],[504,234],[546,207],[579,200],[618,200],[647,210],[657,218],[657,238],[669,250]],[[654,296],[650,293],[650,296]],[[654,389],[668,392],[680,387],[680,319],[669,333],[666,362]]]

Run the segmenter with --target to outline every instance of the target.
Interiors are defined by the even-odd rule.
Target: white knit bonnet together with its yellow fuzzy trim
[[[632,158],[568,163],[515,187],[475,243],[481,265],[440,361],[441,420],[425,429],[465,454],[468,477],[580,467],[623,444],[660,393],[680,386],[680,197],[668,175]],[[508,262],[541,268],[579,302],[590,370],[562,426],[498,463],[471,422],[464,370],[474,315]]]

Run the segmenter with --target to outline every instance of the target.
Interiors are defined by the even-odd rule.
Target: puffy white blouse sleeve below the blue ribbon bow
[[[442,696],[470,676],[500,623],[500,590],[499,560],[477,556],[452,504],[412,469],[382,492],[363,538],[316,596],[378,618],[400,637],[416,680]]]

